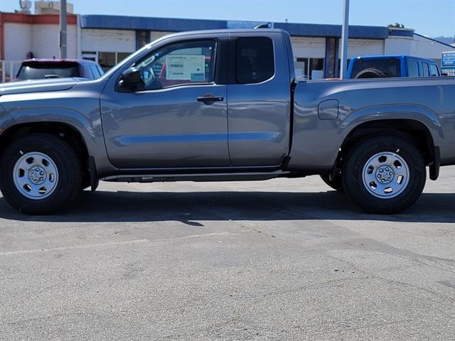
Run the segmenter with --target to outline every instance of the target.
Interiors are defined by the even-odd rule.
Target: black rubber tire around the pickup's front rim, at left
[[[23,195],[14,183],[14,166],[26,153],[43,153],[55,163],[58,180],[48,197],[31,199]],[[30,134],[6,147],[0,161],[0,190],[9,204],[19,212],[45,215],[68,208],[81,192],[80,160],[63,139],[50,134]]]

